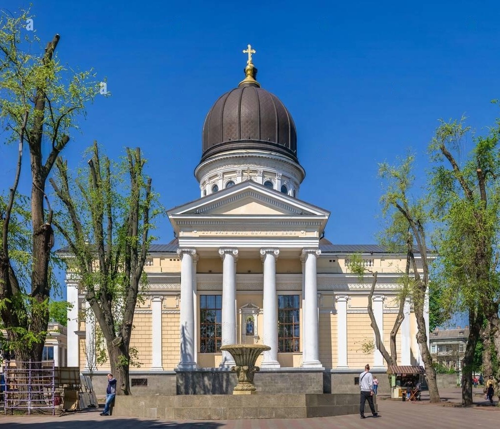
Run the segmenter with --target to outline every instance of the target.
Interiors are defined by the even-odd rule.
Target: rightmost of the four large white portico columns
[[[305,308],[303,367],[322,367],[319,361],[316,258],[319,249],[302,249],[305,258]]]

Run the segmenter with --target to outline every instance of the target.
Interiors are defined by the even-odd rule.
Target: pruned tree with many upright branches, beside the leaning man
[[[127,148],[121,167],[112,168],[94,143],[87,174],[71,178],[67,164],[57,158],[58,183],[50,180],[65,213],[54,224],[69,245],[69,269],[81,279],[106,340],[111,372],[121,385],[117,394],[130,393],[133,315],[153,239],[151,221],[160,212],[151,178],[143,173],[144,163],[138,148]]]

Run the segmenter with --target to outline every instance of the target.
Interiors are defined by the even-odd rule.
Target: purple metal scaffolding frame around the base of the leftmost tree
[[[47,364],[47,362],[43,362]],[[18,367],[21,366],[21,367]],[[5,362],[5,414],[14,409],[33,411],[51,410],[55,415],[54,362],[42,366],[42,362]]]

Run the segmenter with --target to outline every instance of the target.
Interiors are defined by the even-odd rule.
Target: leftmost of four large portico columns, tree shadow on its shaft
[[[192,257],[196,249],[179,248],[180,257],[180,360],[179,369],[193,369],[194,361],[194,306],[192,295]]]

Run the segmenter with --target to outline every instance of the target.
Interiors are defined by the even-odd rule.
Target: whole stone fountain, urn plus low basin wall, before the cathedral
[[[292,368],[291,372],[286,368],[273,372],[263,370],[257,375],[257,384],[259,377],[274,376],[276,377],[274,384],[283,384],[289,392],[270,393],[268,390],[272,386],[260,384],[259,394],[252,394],[256,393],[253,376],[259,371],[255,362],[258,355],[262,351],[270,350],[270,347],[261,344],[228,344],[221,346],[220,349],[230,353],[235,362],[231,371],[236,372],[238,383],[232,395],[227,394],[229,389],[226,394],[119,395],[115,398],[113,415],[164,420],[226,420],[324,417],[359,413],[359,393],[296,392],[297,387],[300,388],[296,377],[297,371],[301,372],[303,369]],[[202,370],[197,368],[190,373],[196,375],[197,371]],[[311,373],[317,374],[322,380],[323,370],[324,368],[320,368]],[[230,375],[227,369],[212,373],[215,372],[225,372]],[[322,389],[322,382],[312,383],[313,387],[316,385]]]

